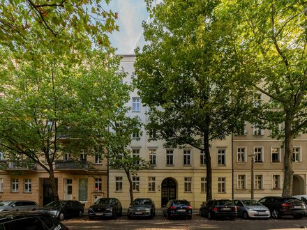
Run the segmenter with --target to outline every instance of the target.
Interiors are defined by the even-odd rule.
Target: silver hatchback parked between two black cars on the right
[[[271,216],[269,208],[260,204],[253,199],[241,199],[234,200],[234,204],[237,206],[237,212],[239,217],[244,219],[248,218],[267,218]]]

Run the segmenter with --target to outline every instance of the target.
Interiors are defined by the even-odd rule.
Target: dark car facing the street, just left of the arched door
[[[150,198],[137,198],[128,208],[128,218],[132,217],[150,217],[156,215],[156,207]]]

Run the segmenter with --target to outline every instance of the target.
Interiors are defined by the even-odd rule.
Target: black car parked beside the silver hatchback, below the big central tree
[[[213,220],[217,217],[237,217],[237,206],[229,199],[211,199],[200,206],[200,215]]]

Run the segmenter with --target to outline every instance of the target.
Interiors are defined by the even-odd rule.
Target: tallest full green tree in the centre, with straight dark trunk
[[[144,23],[149,45],[136,50],[135,86],[151,107],[147,130],[165,146],[194,146],[205,153],[207,200],[212,198],[210,142],[239,129],[244,110],[233,49],[216,27],[217,1],[148,0],[152,22]],[[234,56],[234,60],[235,56]]]

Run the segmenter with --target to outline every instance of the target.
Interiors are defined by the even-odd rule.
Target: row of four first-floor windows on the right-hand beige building
[[[254,147],[253,157],[255,162],[264,162],[263,147]],[[246,147],[237,147],[237,162],[246,162]],[[294,147],[293,162],[301,162],[301,147]],[[281,162],[280,147],[271,147],[271,162]]]

